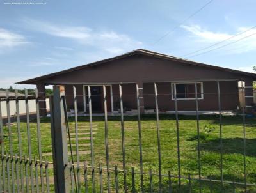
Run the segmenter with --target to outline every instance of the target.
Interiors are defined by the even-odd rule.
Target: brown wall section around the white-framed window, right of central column
[[[145,109],[154,109],[154,84],[144,84]],[[218,110],[218,89],[216,82],[203,82],[204,99],[198,100],[200,111]],[[221,110],[233,110],[239,105],[238,86],[236,81],[220,82]],[[174,100],[170,83],[157,83],[159,109],[174,111]],[[195,100],[177,100],[179,111],[195,111]]]

